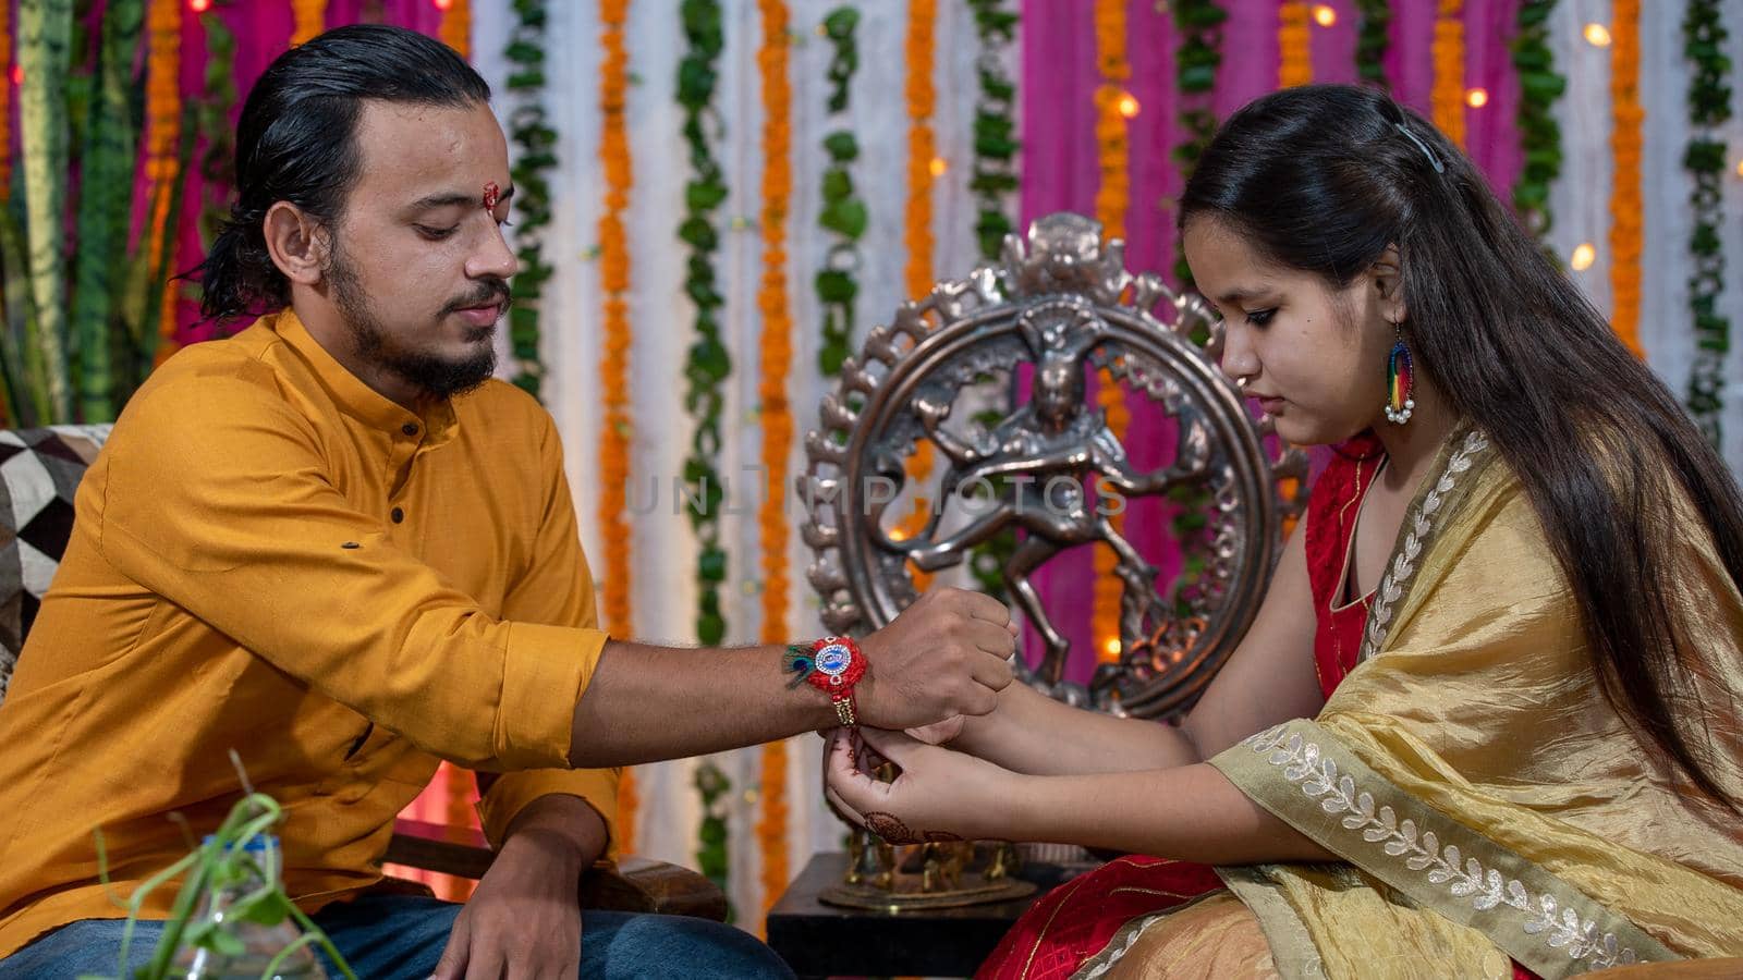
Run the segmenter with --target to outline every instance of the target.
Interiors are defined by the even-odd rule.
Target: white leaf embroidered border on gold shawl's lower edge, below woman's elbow
[[[1478,912],[1506,905],[1523,915],[1520,928],[1565,950],[1569,959],[1586,961],[1591,970],[1642,963],[1633,949],[1621,947],[1614,933],[1600,933],[1595,921],[1581,921],[1574,909],[1562,909],[1553,895],[1532,896],[1516,879],[1504,879],[1476,858],[1459,853],[1457,844],[1441,846],[1433,830],[1419,830],[1415,821],[1398,820],[1393,807],[1373,809],[1373,795],[1358,792],[1353,778],[1339,776],[1337,762],[1319,755],[1319,746],[1278,725],[1246,739],[1253,752],[1283,767],[1283,778],[1319,800],[1319,809],[1344,814],[1346,830],[1360,830],[1368,844],[1379,844],[1387,856],[1403,858],[1414,872],[1428,872],[1428,881],[1445,884],[1455,898],[1469,898]]]

